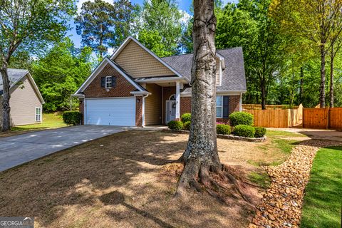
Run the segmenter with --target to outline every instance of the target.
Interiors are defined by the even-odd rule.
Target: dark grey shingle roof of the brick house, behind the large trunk
[[[217,91],[247,90],[242,48],[227,48],[217,50],[217,53],[224,57],[226,66],[222,72],[222,86],[217,86]],[[165,61],[182,76],[191,79],[192,56],[192,54],[170,56],[162,58],[162,61]],[[190,88],[187,88],[186,92],[190,92]]]

